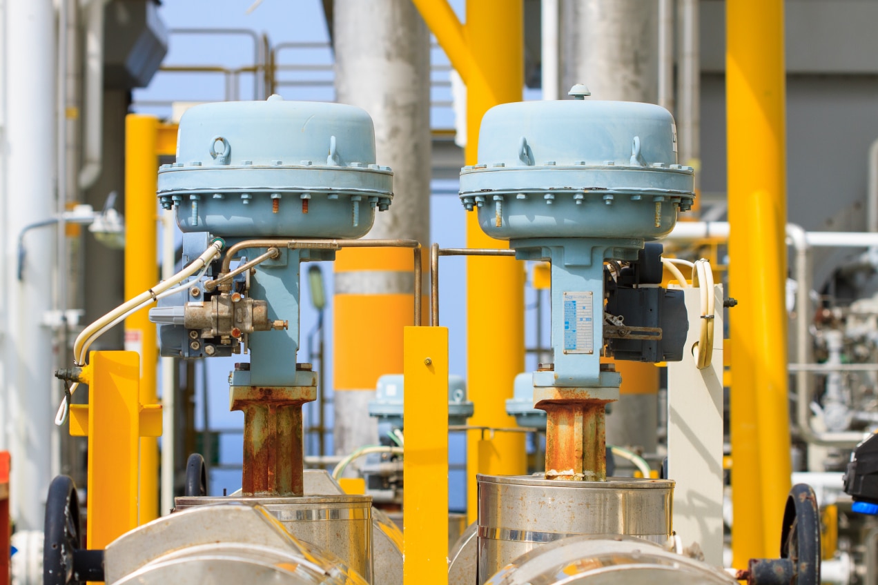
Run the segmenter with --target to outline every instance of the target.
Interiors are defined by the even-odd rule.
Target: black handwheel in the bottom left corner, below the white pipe
[[[74,580],[74,552],[82,542],[79,500],[76,485],[67,475],[59,475],[49,485],[46,526],[43,535],[43,584],[79,585]]]

